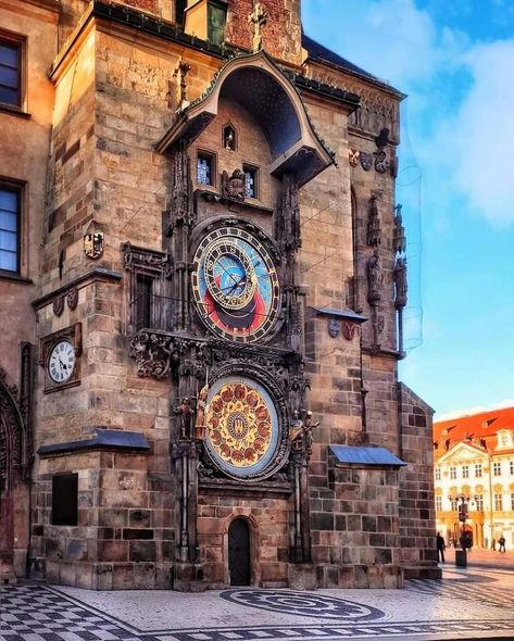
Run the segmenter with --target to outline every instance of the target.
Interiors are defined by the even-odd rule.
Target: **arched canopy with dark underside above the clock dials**
[[[189,146],[218,114],[221,99],[230,98],[261,127],[269,147],[269,174],[297,175],[301,187],[335,162],[334,153],[317,136],[292,83],[263,51],[229,60],[203,95],[178,115],[156,143],[161,153],[183,141]],[[349,108],[349,111],[354,105]]]

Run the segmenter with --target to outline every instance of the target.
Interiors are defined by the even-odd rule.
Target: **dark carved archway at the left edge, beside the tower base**
[[[16,555],[15,541],[20,540],[16,537],[20,529],[26,530],[22,539],[28,537],[28,514],[25,527],[16,523],[15,507],[28,497],[24,482],[28,463],[27,433],[17,403],[17,389],[7,385],[5,373],[0,369],[0,580],[23,576],[25,571],[24,563],[20,563],[20,555]]]

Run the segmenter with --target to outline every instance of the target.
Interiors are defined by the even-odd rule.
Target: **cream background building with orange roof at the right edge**
[[[434,425],[436,526],[459,540],[457,503],[466,498],[465,529],[490,548],[503,535],[514,545],[514,409],[494,410]]]

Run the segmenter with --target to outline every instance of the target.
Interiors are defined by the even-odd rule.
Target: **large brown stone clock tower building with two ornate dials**
[[[437,576],[431,411],[397,376],[402,93],[304,36],[299,0],[18,4],[1,576]]]

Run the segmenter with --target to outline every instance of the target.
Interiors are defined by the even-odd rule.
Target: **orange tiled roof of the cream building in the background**
[[[491,410],[435,423],[434,441],[438,443],[438,450],[441,450],[447,440],[454,444],[460,441],[468,441],[473,437],[475,442],[484,439],[488,449],[494,449],[497,432],[501,429],[514,430],[514,407]],[[502,450],[501,453],[506,452]]]

